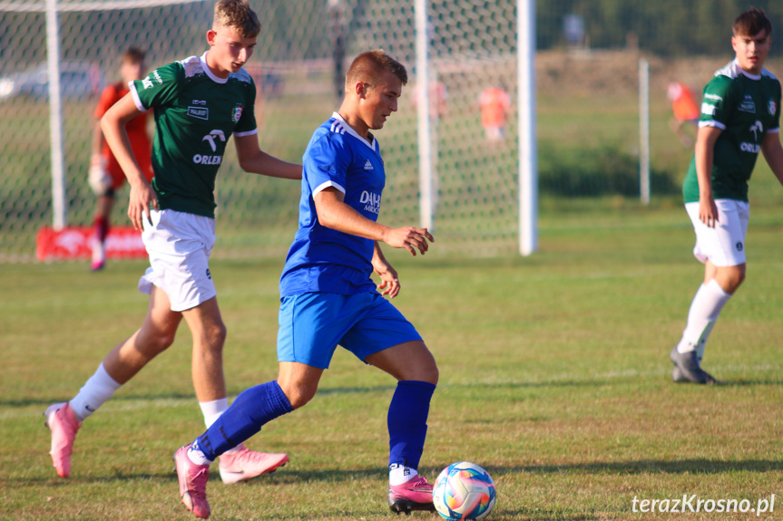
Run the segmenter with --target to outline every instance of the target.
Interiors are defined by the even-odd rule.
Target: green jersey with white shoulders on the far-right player
[[[766,69],[754,75],[737,61],[715,72],[704,87],[700,127],[722,130],[715,142],[712,193],[716,199],[748,201],[748,181],[761,141],[780,127],[780,82]],[[699,201],[696,157],[682,187],[685,202]]]

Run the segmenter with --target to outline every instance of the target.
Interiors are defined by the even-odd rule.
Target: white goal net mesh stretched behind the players
[[[387,163],[381,220],[418,223],[414,10],[406,1],[251,2],[262,23],[248,66],[259,84],[261,147],[299,162],[309,136],[338,107],[336,75],[356,53],[384,48],[405,63],[412,82],[399,112],[379,133]],[[514,104],[504,140],[488,146],[479,97],[503,85],[514,98],[514,3],[430,3],[431,97],[436,150],[435,228],[441,251],[513,252],[516,244]],[[60,1],[64,157],[69,225],[92,223],[87,184],[93,110],[101,84],[118,80],[117,59],[130,45],[152,68],[206,49],[212,2]],[[0,256],[34,255],[35,231],[52,223],[49,107],[45,89],[45,2],[0,3],[0,76],[31,83],[0,100],[4,178]],[[30,34],[40,36],[31,39]],[[70,67],[70,68],[69,68]],[[67,71],[73,77],[66,77]],[[85,72],[86,71],[86,72]],[[25,72],[32,79],[19,79]],[[37,74],[37,76],[36,76]],[[25,77],[26,78],[26,77]],[[35,85],[37,82],[37,86]],[[73,85],[73,82],[78,85]],[[85,86],[89,83],[89,86]],[[70,89],[70,90],[69,90]],[[240,171],[233,158],[218,176],[216,256],[281,255],[296,227],[299,186]],[[127,190],[113,223],[127,224]]]

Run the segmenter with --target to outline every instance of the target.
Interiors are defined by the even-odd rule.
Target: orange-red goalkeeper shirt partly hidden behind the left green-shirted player
[[[101,100],[98,101],[98,106],[95,108],[95,118],[99,120],[103,118],[103,114],[128,92],[130,92],[128,86],[123,82],[114,83],[103,89]],[[133,156],[135,156],[142,171],[147,174],[147,180],[150,180],[152,179],[152,145],[150,137],[147,135],[147,119],[147,112],[142,112],[136,118],[128,121],[125,125],[125,130],[128,131],[128,138],[131,140]],[[125,174],[122,173],[120,164],[117,162],[117,159],[114,159],[114,154],[105,140],[103,141],[101,155],[107,159],[106,169],[115,179],[113,184],[116,186],[113,186],[113,188],[118,188],[119,185],[122,185]]]

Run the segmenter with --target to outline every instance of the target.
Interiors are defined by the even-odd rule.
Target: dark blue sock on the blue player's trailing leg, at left
[[[258,433],[268,421],[292,410],[277,380],[251,387],[243,391],[230,408],[193,441],[192,449],[200,450],[206,458],[214,461],[220,454]]]

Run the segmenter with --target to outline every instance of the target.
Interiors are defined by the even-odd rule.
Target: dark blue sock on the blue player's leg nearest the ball
[[[398,381],[388,412],[389,465],[418,468],[426,439],[426,418],[435,384]]]

